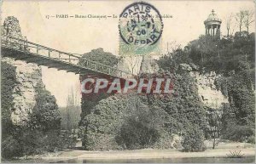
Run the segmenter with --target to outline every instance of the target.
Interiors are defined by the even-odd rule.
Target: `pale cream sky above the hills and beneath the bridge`
[[[126,6],[134,1],[15,1],[3,0],[1,23],[7,16],[15,16],[20,21],[23,36],[49,48],[73,54],[84,54],[91,49],[103,48],[104,51],[119,54],[118,19],[76,19],[49,18],[47,15],[119,15]],[[161,37],[162,54],[166,53],[167,42],[186,45],[205,34],[204,20],[212,9],[223,20],[221,33],[226,35],[224,18],[241,9],[254,10],[251,1],[147,1],[160,11],[172,15],[163,19]],[[255,25],[250,27],[255,31]],[[169,44],[170,46],[170,44]],[[55,95],[59,106],[67,105],[70,90],[79,92],[79,75],[57,71],[42,66],[45,87]]]

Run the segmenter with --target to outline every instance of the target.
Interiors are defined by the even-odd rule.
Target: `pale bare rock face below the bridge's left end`
[[[42,82],[41,69],[38,65],[26,64],[24,61],[3,58],[3,62],[16,67],[17,83],[12,91],[14,108],[11,110],[11,120],[15,125],[22,125],[36,104],[35,88]]]

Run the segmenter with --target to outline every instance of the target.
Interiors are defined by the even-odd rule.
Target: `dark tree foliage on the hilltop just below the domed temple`
[[[216,71],[228,75],[236,70],[240,61],[247,62],[250,68],[254,67],[255,38],[252,35],[240,35],[236,32],[234,40],[222,38],[220,40],[201,36],[188,45],[189,58],[195,65],[200,65],[206,71]]]

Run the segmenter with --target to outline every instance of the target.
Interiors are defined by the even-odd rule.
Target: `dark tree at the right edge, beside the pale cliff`
[[[254,71],[253,71],[254,76]],[[227,92],[230,107],[222,116],[222,135],[234,141],[253,141],[255,131],[255,95],[252,70],[241,65],[236,74],[223,79],[221,91]],[[251,140],[250,140],[251,139]]]

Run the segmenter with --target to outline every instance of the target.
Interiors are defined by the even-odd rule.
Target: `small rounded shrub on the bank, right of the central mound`
[[[204,146],[204,133],[203,131],[195,126],[195,127],[189,127],[183,134],[182,139],[182,146],[183,151],[203,151],[205,150]]]

